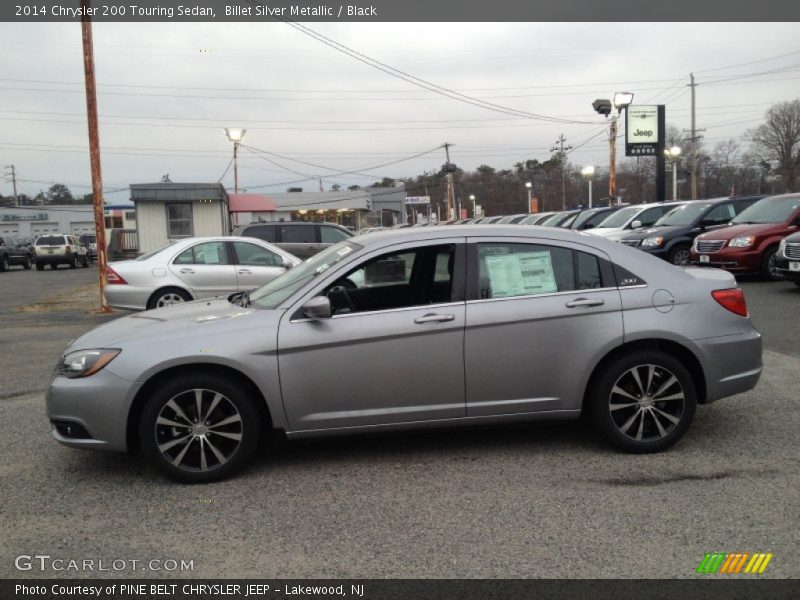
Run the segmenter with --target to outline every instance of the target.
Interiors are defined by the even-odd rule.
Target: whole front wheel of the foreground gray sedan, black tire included
[[[230,477],[258,447],[261,418],[255,402],[246,386],[214,374],[176,377],[159,385],[145,405],[139,421],[142,452],[167,477],[182,483]]]

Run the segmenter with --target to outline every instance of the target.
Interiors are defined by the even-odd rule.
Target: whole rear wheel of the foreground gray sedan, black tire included
[[[670,383],[673,376],[674,383]],[[595,427],[611,444],[635,454],[660,452],[675,445],[689,428],[697,407],[689,371],[660,351],[623,355],[603,367],[590,385],[588,408]],[[659,397],[666,400],[659,401]]]

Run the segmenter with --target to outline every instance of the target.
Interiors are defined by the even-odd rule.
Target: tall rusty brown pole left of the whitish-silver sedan
[[[106,303],[106,223],[103,214],[103,176],[100,169],[100,134],[97,128],[97,88],[94,82],[94,48],[90,0],[81,0],[83,16],[83,73],[86,80],[86,120],[89,123],[89,158],[92,166],[92,203],[97,236],[97,271],[100,280],[100,312],[111,312]]]

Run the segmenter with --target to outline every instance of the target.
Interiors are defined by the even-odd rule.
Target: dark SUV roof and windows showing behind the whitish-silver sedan
[[[336,223],[275,221],[239,225],[233,235],[264,240],[305,260],[331,244],[352,237],[353,233]]]

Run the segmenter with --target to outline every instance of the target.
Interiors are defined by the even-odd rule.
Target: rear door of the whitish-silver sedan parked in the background
[[[224,241],[193,244],[172,260],[169,270],[197,298],[210,298],[237,290],[236,267]]]

